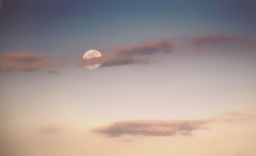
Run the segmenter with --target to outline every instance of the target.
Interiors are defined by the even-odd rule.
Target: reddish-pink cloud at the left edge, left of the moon
[[[42,57],[51,57],[49,54],[27,52],[9,52],[0,55],[0,70],[31,71],[65,64],[65,61],[46,60]]]

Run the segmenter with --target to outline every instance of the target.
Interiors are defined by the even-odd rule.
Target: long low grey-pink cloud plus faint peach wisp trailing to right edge
[[[191,136],[196,130],[208,129],[211,123],[230,124],[247,122],[255,115],[240,112],[226,112],[209,119],[201,120],[128,120],[118,121],[106,126],[96,127],[93,132],[107,137],[132,136]]]

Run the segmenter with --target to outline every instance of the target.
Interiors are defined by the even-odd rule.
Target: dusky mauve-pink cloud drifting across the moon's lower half
[[[172,52],[173,44],[168,41],[148,42],[144,41],[140,46],[121,47],[115,51],[106,53],[101,57],[89,60],[81,59],[78,65],[101,64],[102,67],[127,65],[127,64],[146,64],[156,60],[148,57],[157,53],[169,54]]]

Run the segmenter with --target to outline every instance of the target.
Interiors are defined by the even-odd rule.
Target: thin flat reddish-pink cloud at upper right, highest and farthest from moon
[[[214,35],[201,35],[190,40],[190,44],[195,45],[209,45],[217,44],[230,41],[241,41],[243,40],[242,36],[238,35],[227,35],[227,34],[214,34]]]

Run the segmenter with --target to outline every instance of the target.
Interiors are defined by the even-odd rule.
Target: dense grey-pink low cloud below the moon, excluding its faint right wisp
[[[135,120],[118,121],[111,125],[98,127],[93,132],[108,137],[132,136],[191,136],[192,132],[204,128],[211,120]]]

